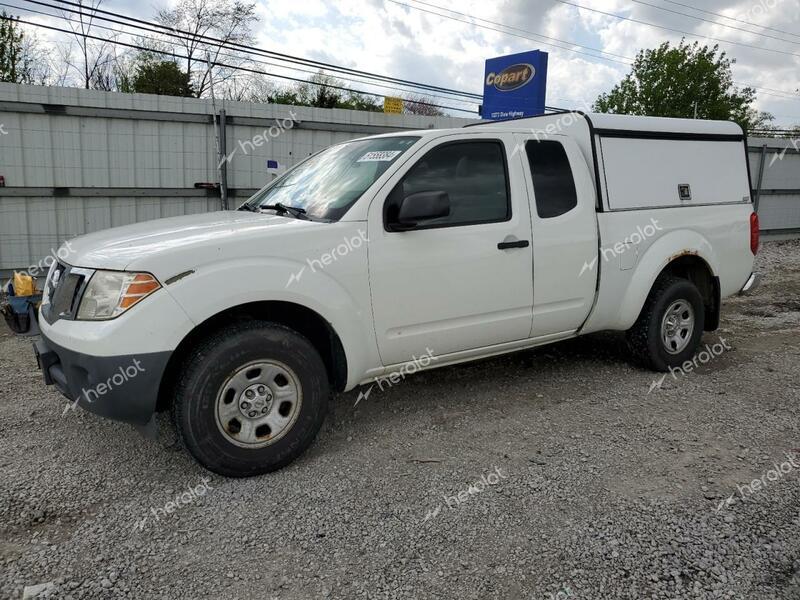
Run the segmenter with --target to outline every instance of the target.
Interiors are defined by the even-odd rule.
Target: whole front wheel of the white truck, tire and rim
[[[311,445],[329,395],[325,365],[305,337],[274,323],[238,323],[189,357],[173,405],[175,424],[207,469],[260,475]]]

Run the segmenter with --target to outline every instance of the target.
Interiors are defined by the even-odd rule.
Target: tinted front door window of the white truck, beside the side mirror
[[[389,194],[384,222],[397,220],[406,198],[426,192],[446,194],[449,214],[420,221],[413,229],[509,220],[511,205],[503,144],[495,140],[452,142],[432,149]]]

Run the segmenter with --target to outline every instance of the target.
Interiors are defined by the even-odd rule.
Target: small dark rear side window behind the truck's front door
[[[536,214],[549,219],[578,206],[575,179],[564,146],[551,140],[531,140],[525,144],[525,151],[533,177]]]

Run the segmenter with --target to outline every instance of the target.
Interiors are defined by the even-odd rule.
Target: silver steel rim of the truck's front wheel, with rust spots
[[[236,446],[263,448],[286,435],[302,403],[294,371],[276,361],[254,361],[237,369],[220,387],[217,427]]]

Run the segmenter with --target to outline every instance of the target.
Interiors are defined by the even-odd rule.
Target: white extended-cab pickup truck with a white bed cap
[[[38,362],[145,432],[171,410],[228,476],[288,464],[332,391],[409,361],[619,330],[666,370],[754,285],[745,142],[730,122],[565,112],[331,146],[237,211],[72,240]]]

